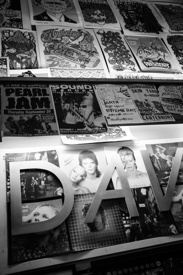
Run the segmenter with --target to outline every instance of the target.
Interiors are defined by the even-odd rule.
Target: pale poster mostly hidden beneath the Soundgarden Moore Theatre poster
[[[123,140],[135,140],[129,126],[111,126],[108,132],[86,135],[61,135],[63,144],[88,144],[98,142],[116,142]]]

